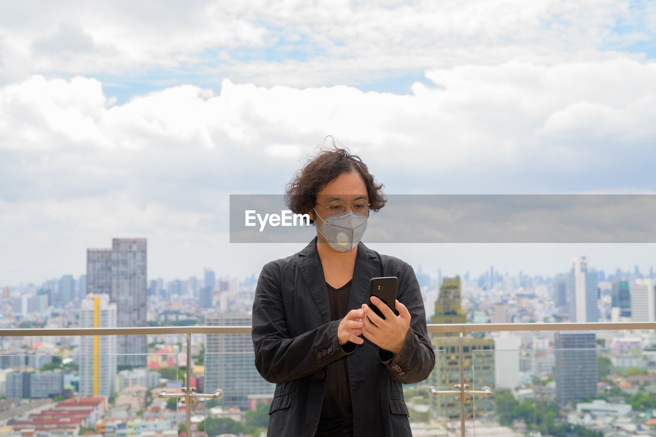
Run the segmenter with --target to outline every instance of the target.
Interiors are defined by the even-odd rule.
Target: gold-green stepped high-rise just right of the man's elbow
[[[430,319],[434,324],[466,323],[466,313],[462,309],[460,276],[444,278],[440,286],[440,296],[435,303],[435,315]],[[432,335],[432,344],[436,355],[443,356],[444,367],[436,366],[430,378],[434,385],[442,390],[453,390],[453,385],[460,384],[459,338],[455,332],[436,332]],[[480,390],[483,386],[494,387],[495,356],[494,340],[489,338],[466,337],[462,339],[462,360],[470,363],[472,375],[465,375],[464,383],[470,388]],[[471,370],[470,370],[471,371]],[[442,398],[440,396],[440,398]],[[447,417],[460,417],[461,404],[452,396],[436,402],[445,403]],[[484,413],[493,413],[494,400],[487,396],[476,398],[476,402],[465,404],[464,417],[480,417]],[[441,412],[439,414],[442,414]]]

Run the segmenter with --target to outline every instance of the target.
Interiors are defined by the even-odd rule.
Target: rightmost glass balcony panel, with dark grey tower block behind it
[[[474,397],[476,432],[489,434],[485,427],[497,425],[556,436],[649,429],[656,351],[629,334],[608,340],[600,335],[607,332],[534,332],[529,342],[518,339],[525,349],[501,349],[508,343],[501,340],[491,354],[474,351],[472,388],[487,385],[494,393],[493,406]]]

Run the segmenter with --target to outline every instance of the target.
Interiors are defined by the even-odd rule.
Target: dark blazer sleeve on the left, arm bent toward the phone
[[[352,343],[340,347],[337,328],[340,321],[325,323],[300,335],[291,335],[295,313],[285,308],[281,290],[280,265],[264,266],[253,301],[253,347],[255,367],[266,381],[285,383],[325,368],[331,362],[355,351]]]

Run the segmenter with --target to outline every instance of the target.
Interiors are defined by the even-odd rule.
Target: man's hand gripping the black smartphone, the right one
[[[408,309],[403,303],[396,301],[394,307],[399,312],[397,316],[378,297],[371,296],[371,303],[378,307],[380,312],[385,316],[385,319],[380,318],[369,305],[363,303],[362,309],[366,317],[362,319],[364,323],[362,335],[378,347],[390,351],[394,355],[398,354],[401,352],[405,335],[407,335],[410,327],[411,316]]]

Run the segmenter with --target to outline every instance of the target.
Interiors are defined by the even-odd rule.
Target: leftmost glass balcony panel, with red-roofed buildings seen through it
[[[98,336],[100,349],[108,338],[113,337]],[[76,353],[85,347],[85,339],[92,344],[94,337],[81,337],[79,345],[73,342],[73,353],[2,352],[0,387],[6,398],[0,400],[0,424],[10,427],[10,434],[30,428],[37,434],[176,435],[176,401],[157,395],[180,390],[177,354],[123,355],[128,362],[144,365],[118,366],[118,354]]]

